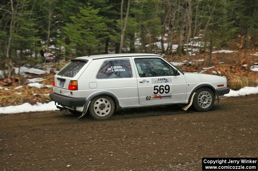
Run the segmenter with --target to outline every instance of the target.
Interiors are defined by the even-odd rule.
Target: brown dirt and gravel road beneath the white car
[[[1,170],[201,170],[202,157],[258,157],[258,95],[212,111],[117,111],[97,121],[63,111],[2,114]]]

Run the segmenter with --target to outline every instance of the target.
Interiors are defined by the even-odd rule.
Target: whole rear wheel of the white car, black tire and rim
[[[90,100],[89,112],[96,120],[104,120],[113,115],[114,100],[110,96],[97,96]]]

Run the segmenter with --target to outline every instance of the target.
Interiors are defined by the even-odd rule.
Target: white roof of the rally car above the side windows
[[[91,55],[91,56],[82,56],[77,59],[103,59],[103,58],[118,58],[118,57],[131,57],[131,56],[158,56],[157,54],[144,54],[144,53],[131,53],[131,54],[100,54],[100,55]]]

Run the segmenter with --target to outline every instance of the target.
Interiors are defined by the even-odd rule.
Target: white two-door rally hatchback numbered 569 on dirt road
[[[114,110],[185,104],[210,110],[229,93],[226,77],[184,73],[156,54],[104,54],[72,59],[53,81],[49,96],[71,113],[89,110],[107,119]]]

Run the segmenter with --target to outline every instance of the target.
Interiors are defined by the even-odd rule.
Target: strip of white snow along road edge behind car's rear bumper
[[[21,112],[37,112],[37,111],[48,111],[48,110],[58,110],[55,106],[55,102],[51,101],[49,103],[39,103],[31,105],[29,103],[24,103],[18,106],[6,106],[0,107],[0,113],[21,113]]]

